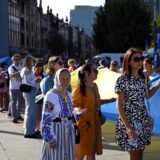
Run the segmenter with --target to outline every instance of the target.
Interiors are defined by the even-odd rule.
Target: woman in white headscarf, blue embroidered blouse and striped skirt
[[[67,91],[69,84],[69,71],[59,69],[54,77],[54,88],[44,97],[41,129],[44,141],[40,160],[75,159],[73,108]]]

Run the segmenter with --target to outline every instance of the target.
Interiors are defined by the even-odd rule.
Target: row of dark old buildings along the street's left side
[[[49,7],[44,14],[42,0],[39,5],[37,0],[0,1],[0,13],[0,54],[52,55],[49,41],[57,33],[65,43],[64,51],[59,53],[62,57],[75,57],[86,50],[85,41],[82,42],[85,32],[71,26],[68,18],[64,21],[58,18],[58,14],[53,15]]]

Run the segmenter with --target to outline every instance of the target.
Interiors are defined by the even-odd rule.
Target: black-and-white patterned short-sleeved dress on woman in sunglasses
[[[148,84],[149,85],[149,84]],[[151,128],[148,113],[145,106],[145,81],[141,77],[121,75],[116,82],[115,92],[123,92],[125,97],[123,107],[130,125],[139,135],[136,145],[130,143],[126,127],[119,118],[116,124],[116,141],[123,150],[144,149],[150,144]]]

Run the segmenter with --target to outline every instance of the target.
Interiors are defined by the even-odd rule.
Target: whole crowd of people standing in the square
[[[41,136],[40,160],[95,160],[95,155],[102,154],[100,105],[115,101],[101,99],[94,83],[98,71],[106,67],[104,59],[98,65],[86,60],[75,88],[70,84],[70,73],[79,67],[75,59],[69,59],[66,67],[61,57],[50,57],[46,71],[31,55],[25,56],[23,65],[20,60],[15,54],[9,68],[7,63],[1,64],[0,112],[7,111],[13,123],[23,121],[24,138]],[[158,75],[153,66],[150,57],[144,59],[141,50],[130,48],[121,68],[114,60],[108,68],[121,73],[115,84],[119,113],[115,136],[131,160],[142,160],[145,145],[150,144],[145,78],[150,88],[149,76]],[[149,97],[159,88],[160,83],[150,88]],[[75,125],[80,133],[78,144]]]

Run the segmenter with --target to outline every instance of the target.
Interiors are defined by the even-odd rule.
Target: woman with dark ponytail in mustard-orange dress
[[[80,143],[76,144],[76,160],[95,160],[95,154],[102,154],[101,121],[99,107],[101,104],[112,102],[115,99],[100,99],[99,91],[94,80],[98,71],[96,65],[87,63],[78,72],[79,83],[73,90],[72,101],[74,107],[87,109],[85,117],[78,121]]]

